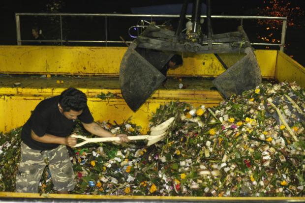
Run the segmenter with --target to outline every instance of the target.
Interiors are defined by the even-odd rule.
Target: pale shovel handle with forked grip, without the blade
[[[149,137],[149,135],[138,135],[138,136],[127,136],[129,140],[145,140]],[[79,147],[82,145],[85,145],[87,143],[99,143],[99,142],[114,142],[114,141],[120,141],[120,137],[105,137],[105,138],[87,138],[81,135],[71,135],[71,138],[79,138],[84,140],[84,142],[81,142],[73,147]]]

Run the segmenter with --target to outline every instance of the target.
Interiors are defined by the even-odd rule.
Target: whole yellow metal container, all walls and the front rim
[[[120,47],[52,47],[52,46],[0,46],[0,74],[51,74],[51,75],[119,75],[120,62],[126,48]],[[274,50],[255,51],[263,78],[281,81],[296,81],[305,87],[305,68],[282,52]],[[220,57],[228,66],[241,56],[223,54]],[[225,71],[214,55],[183,55],[183,66],[170,70],[169,76],[215,77]],[[60,80],[60,79],[59,79]],[[14,81],[14,77],[12,77]],[[18,80],[16,80],[18,81]],[[1,82],[1,78],[0,78]],[[209,89],[158,89],[137,111],[132,112],[122,98],[97,98],[98,94],[108,92],[121,96],[119,88],[79,88],[88,96],[88,106],[95,121],[116,120],[122,123],[131,121],[148,130],[152,113],[164,103],[185,101],[194,106],[218,105],[222,97]],[[27,87],[11,87],[0,83],[0,132],[7,132],[22,126],[30,117],[30,111],[43,99],[59,95],[64,88],[61,84],[44,87],[34,84]],[[206,198],[206,197],[131,197],[131,196],[87,196],[55,195],[0,192],[0,200],[13,198],[55,198],[55,199],[96,199],[96,200],[152,200],[152,201],[283,201],[304,202],[305,198]]]

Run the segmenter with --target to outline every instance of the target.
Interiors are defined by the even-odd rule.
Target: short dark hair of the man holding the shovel
[[[81,111],[87,106],[87,96],[82,91],[70,87],[61,92],[59,103],[64,112]]]

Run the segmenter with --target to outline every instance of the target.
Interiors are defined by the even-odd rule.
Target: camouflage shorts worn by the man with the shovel
[[[65,145],[52,150],[34,150],[21,143],[21,160],[16,176],[16,192],[37,193],[41,175],[48,165],[53,189],[71,191],[74,189],[74,173]]]

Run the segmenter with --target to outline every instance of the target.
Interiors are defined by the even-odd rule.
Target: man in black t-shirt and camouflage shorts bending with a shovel
[[[93,122],[86,95],[70,87],[60,96],[41,101],[23,126],[16,192],[38,192],[39,181],[47,165],[45,160],[54,190],[66,194],[74,189],[74,172],[66,145],[72,147],[77,144],[77,139],[70,137],[77,118],[94,135],[117,136],[121,142],[129,141],[125,134],[112,134]]]

